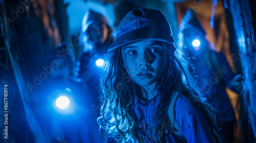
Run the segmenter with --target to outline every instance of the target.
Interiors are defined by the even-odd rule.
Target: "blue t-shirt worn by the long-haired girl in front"
[[[157,96],[146,102],[138,99],[135,103],[134,111],[138,117],[138,131],[143,142],[152,142],[151,134],[153,136],[157,134],[154,126],[151,129],[151,125],[153,113],[159,100],[160,96]],[[192,105],[182,94],[176,101],[175,112],[176,121],[187,142],[217,142],[211,132],[210,120],[204,111]],[[162,125],[165,128],[166,142],[180,142],[174,134],[171,135],[170,123]]]

